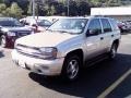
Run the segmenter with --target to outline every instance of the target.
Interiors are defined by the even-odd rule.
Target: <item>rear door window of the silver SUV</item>
[[[111,25],[107,19],[102,19],[102,24],[103,24],[104,33],[112,32]]]

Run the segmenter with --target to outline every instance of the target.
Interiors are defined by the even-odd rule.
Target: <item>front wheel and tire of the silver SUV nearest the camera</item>
[[[62,68],[62,77],[67,81],[75,81],[80,74],[81,60],[78,56],[67,57]]]

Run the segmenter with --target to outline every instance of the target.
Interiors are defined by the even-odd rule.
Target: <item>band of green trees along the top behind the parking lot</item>
[[[35,0],[36,15],[67,15],[68,0]],[[88,15],[92,7],[118,7],[123,0],[69,0],[70,16]],[[21,17],[32,15],[32,0],[0,0],[0,14]]]

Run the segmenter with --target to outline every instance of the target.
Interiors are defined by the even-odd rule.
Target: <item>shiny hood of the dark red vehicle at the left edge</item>
[[[22,30],[32,30],[29,27],[2,27],[1,30],[3,32],[22,32]]]

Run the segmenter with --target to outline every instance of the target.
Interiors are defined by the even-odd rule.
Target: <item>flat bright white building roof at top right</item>
[[[91,15],[131,15],[131,7],[92,8]]]

